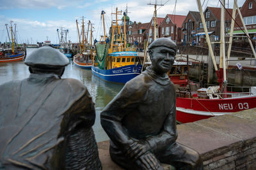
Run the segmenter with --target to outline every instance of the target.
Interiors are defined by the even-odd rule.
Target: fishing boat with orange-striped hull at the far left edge
[[[23,60],[26,55],[24,48],[17,45],[16,24],[14,24],[15,29],[13,31],[12,22],[13,21],[10,23],[11,38],[7,27],[8,24],[6,24],[6,30],[10,43],[6,43],[6,48],[0,50],[0,62],[13,62]],[[8,47],[8,45],[12,45],[12,47]]]

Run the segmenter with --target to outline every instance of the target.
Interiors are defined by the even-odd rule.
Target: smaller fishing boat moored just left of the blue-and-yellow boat
[[[91,69],[92,68],[92,23],[88,22],[88,31],[87,36],[85,35],[85,29],[84,29],[84,17],[82,21],[82,27],[81,27],[81,34],[79,33],[79,26],[78,22],[76,20],[77,24],[77,32],[79,36],[79,53],[77,53],[73,57],[73,62],[77,67],[80,67],[81,69]],[[88,44],[88,32],[89,27],[91,26],[91,45]]]

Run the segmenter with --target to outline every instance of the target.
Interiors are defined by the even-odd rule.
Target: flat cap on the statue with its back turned
[[[42,46],[26,57],[25,64],[28,66],[64,67],[69,64],[69,60],[59,50],[51,46]]]

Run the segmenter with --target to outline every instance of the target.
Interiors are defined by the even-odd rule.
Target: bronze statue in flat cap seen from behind
[[[25,63],[29,78],[0,85],[0,169],[101,169],[92,97],[60,78],[67,57],[45,46]]]

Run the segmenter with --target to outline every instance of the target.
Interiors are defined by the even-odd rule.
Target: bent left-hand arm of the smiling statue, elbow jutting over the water
[[[141,85],[137,83],[137,81],[127,83],[124,89],[100,113],[100,122],[104,131],[124,153],[131,148],[134,140],[129,137],[122,125],[122,120],[125,115],[129,114],[127,110],[136,108],[140,103],[141,95],[143,96],[143,90],[137,88],[141,88]]]

